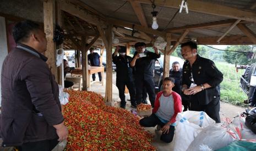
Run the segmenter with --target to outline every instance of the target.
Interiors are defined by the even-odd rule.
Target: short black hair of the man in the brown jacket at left
[[[31,31],[41,30],[40,25],[31,20],[18,22],[13,27],[13,38],[15,43],[27,42]]]

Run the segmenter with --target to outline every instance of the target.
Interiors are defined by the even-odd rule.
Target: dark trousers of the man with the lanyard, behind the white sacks
[[[216,123],[220,123],[220,97],[216,97],[206,105],[200,105],[198,101],[193,101],[193,97],[191,98],[191,111],[203,111],[215,120]]]

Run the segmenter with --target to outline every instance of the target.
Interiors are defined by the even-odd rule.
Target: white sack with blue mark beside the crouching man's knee
[[[176,117],[177,126],[175,128],[174,148],[175,151],[187,150],[189,144],[194,140],[198,133],[203,130],[202,127],[189,123],[189,121],[178,113]]]

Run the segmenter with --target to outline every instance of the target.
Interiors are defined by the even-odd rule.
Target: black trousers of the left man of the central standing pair
[[[130,103],[132,105],[136,104],[134,82],[117,80],[116,86],[118,88],[119,97],[121,99],[121,107],[126,106],[126,96],[124,95],[124,90],[126,89],[126,86],[127,86],[128,90],[129,90],[129,94],[130,94]]]

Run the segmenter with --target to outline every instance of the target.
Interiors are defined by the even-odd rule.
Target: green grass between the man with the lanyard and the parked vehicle
[[[243,100],[247,99],[247,95],[239,86],[240,76],[243,74],[244,70],[239,69],[238,72],[236,72],[235,65],[222,62],[216,62],[216,66],[224,76],[224,80],[220,84],[221,101],[237,106],[244,106]]]

